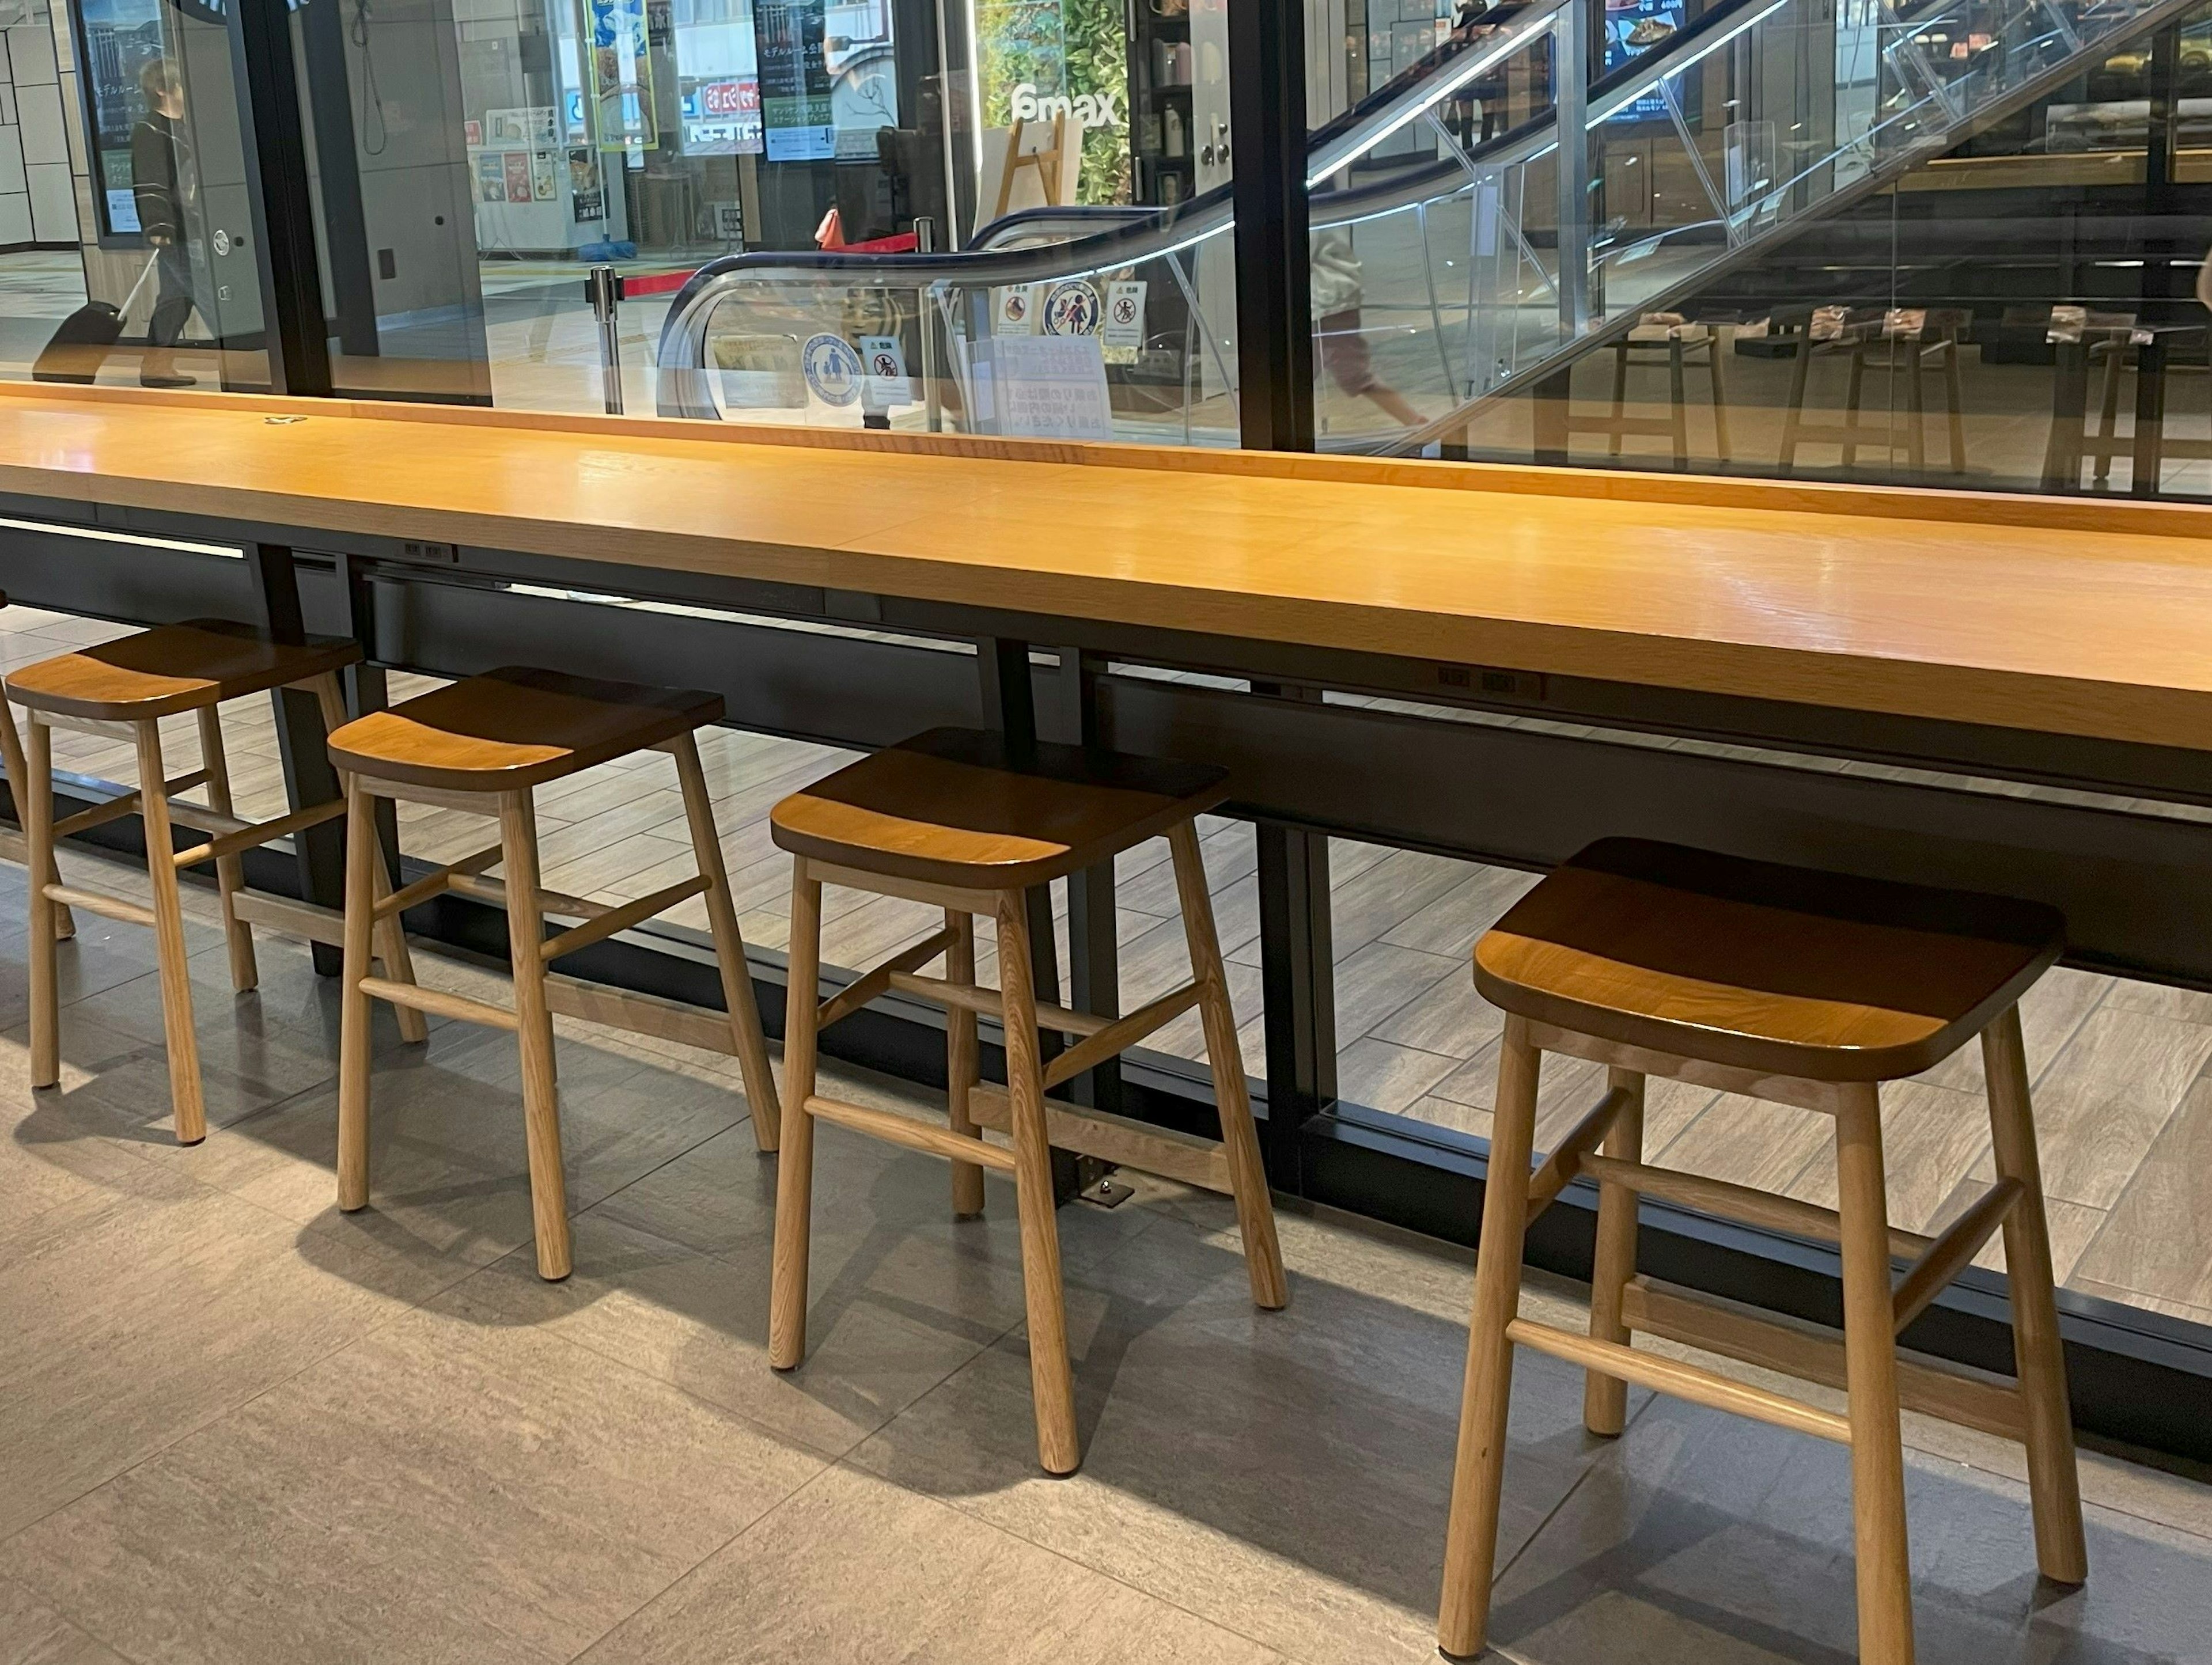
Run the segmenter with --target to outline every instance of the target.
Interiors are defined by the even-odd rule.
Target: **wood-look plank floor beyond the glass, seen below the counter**
[[[33,608],[0,612],[0,670],[97,641],[117,626]],[[429,685],[394,677],[394,697]],[[168,725],[173,765],[197,761],[190,719]],[[232,778],[250,814],[274,814],[283,776],[265,701],[226,708]],[[832,767],[823,745],[734,730],[703,736],[745,938],[787,944],[790,862],[768,840],[770,805]],[[55,736],[60,767],[128,778],[128,747]],[[1858,767],[1858,765],[1854,765]],[[1871,765],[1867,765],[1871,767]],[[688,876],[684,805],[668,758],[648,754],[540,792],[544,882],[597,900],[628,900]],[[451,809],[403,807],[403,847],[453,860],[493,842],[493,829]],[[1210,823],[1206,860],[1243,1019],[1245,1064],[1263,1068],[1259,1035],[1259,884],[1252,831]],[[1531,882],[1420,851],[1334,840],[1336,1013],[1345,1099],[1471,1134],[1489,1132],[1500,1019],[1467,984],[1475,935]],[[1166,845],[1119,862],[1124,1010],[1186,975],[1183,931]],[[1064,913],[1064,896],[1062,896]],[[692,900],[670,915],[706,926]],[[927,935],[936,915],[911,902],[830,891],[825,960],[872,964]],[[989,920],[984,977],[995,975]],[[1062,964],[1066,960],[1062,957]],[[2212,1212],[2212,995],[2057,971],[2026,1004],[2028,1061],[2044,1137],[2059,1278],[2086,1294],[2212,1322],[2212,1243],[2192,1223]],[[1155,1041],[1201,1057],[1197,1017]],[[1893,1210],[1909,1229],[1949,1223],[1989,1185],[1989,1123],[1980,1059],[1962,1053],[1922,1081],[1889,1090]],[[1555,1059],[1537,1143],[1595,1101],[1595,1070]],[[1814,1112],[1694,1090],[1655,1095],[1650,1152],[1674,1167],[1834,1201],[1829,1125]],[[1984,1256],[2002,1265],[2002,1247]]]

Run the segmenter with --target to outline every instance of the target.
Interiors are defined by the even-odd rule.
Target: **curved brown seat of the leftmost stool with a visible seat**
[[[18,705],[60,716],[144,723],[303,683],[361,663],[352,637],[292,646],[223,619],[164,624],[7,674]]]

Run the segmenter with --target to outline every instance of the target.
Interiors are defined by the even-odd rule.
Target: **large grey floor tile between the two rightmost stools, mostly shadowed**
[[[1332,1280],[1290,1258],[1281,1313],[1252,1307],[1241,1254],[1177,1223],[1071,1278],[1073,1479],[1035,1466],[1020,1338],[852,1462],[1296,1658],[1431,1658],[1464,1322],[1360,1287],[1356,1263]],[[1420,1282],[1464,1311],[1464,1269]],[[1579,1378],[1533,1360],[1526,1380],[1511,1543],[1588,1462]]]

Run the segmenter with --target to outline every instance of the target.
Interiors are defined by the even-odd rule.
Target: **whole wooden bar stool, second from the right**
[[[1037,1415],[1037,1462],[1075,1473],[1075,1378],[1053,1221],[1051,1148],[1126,1163],[1237,1198],[1252,1300],[1281,1307],[1283,1254],[1274,1240],[1267,1176],[1252,1132],[1252,1101],[1237,1050],[1214,940],[1212,900],[1194,818],[1219,805],[1223,769],[1037,745],[1020,758],[1002,736],[931,730],[838,769],[770,811],[779,847],[792,851],[792,973],[783,1019],[783,1090],[792,1123],[776,1174],[776,1252],[768,1358],[796,1369],[807,1351],[807,1225],[814,1190],[814,1119],[945,1156],[953,1165],[953,1214],[982,1212],[982,1170],[1013,1176],[1022,1216],[1022,1289],[1029,1307],[1029,1371]],[[1110,1019],[1040,1004],[1031,988],[1024,891],[1110,862],[1133,845],[1168,836],[1175,889],[1190,942],[1188,986],[1144,1010]],[[945,909],[945,929],[863,973],[816,1006],[821,977],[821,889],[845,884]],[[975,915],[998,922],[998,988],[975,984]],[[945,957],[942,977],[918,975]],[[947,1010],[949,1125],[869,1110],[814,1092],[814,1046],[823,1028],[898,988]],[[1221,1141],[1126,1121],[1046,1090],[1128,1050],[1181,1013],[1199,1008],[1206,1057],[1221,1110]],[[1006,1088],[975,1072],[975,1017],[1006,1028]],[[1042,1061],[1037,1028],[1077,1037]],[[1011,1132],[1011,1145],[982,1139]]]

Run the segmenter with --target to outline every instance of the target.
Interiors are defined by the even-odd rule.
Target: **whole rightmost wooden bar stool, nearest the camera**
[[[2031,902],[1610,838],[1528,891],[1475,944],[1475,988],[1509,1017],[1444,1548],[1444,1654],[1478,1654],[1489,1627],[1515,1347],[1588,1371],[1584,1422],[1599,1435],[1621,1431],[1626,1384],[1639,1382],[1849,1446],[1858,1656],[1869,1665],[1913,1658],[1900,1404],[2020,1439],[2037,1565],[2059,1583],[2088,1577],[2017,1008],[2059,957],[2062,935],[2064,920]],[[1893,1229],[1880,1083],[1918,1075],[1973,1037],[1989,1077],[1997,1183],[1936,1238]],[[1608,1066],[1610,1090],[1531,1179],[1544,1053]],[[1832,1114],[1840,1210],[1648,1167],[1652,1075]],[[1588,1336],[1517,1313],[1522,1234],[1577,1174],[1599,1181]],[[1644,1194],[1840,1245],[1840,1342],[1635,1276]],[[1900,1360],[1896,1336],[2000,1225],[2015,1384]],[[1896,1282],[1893,1258],[1909,1260]],[[1639,1353],[1632,1331],[1845,1386],[1849,1413]]]

